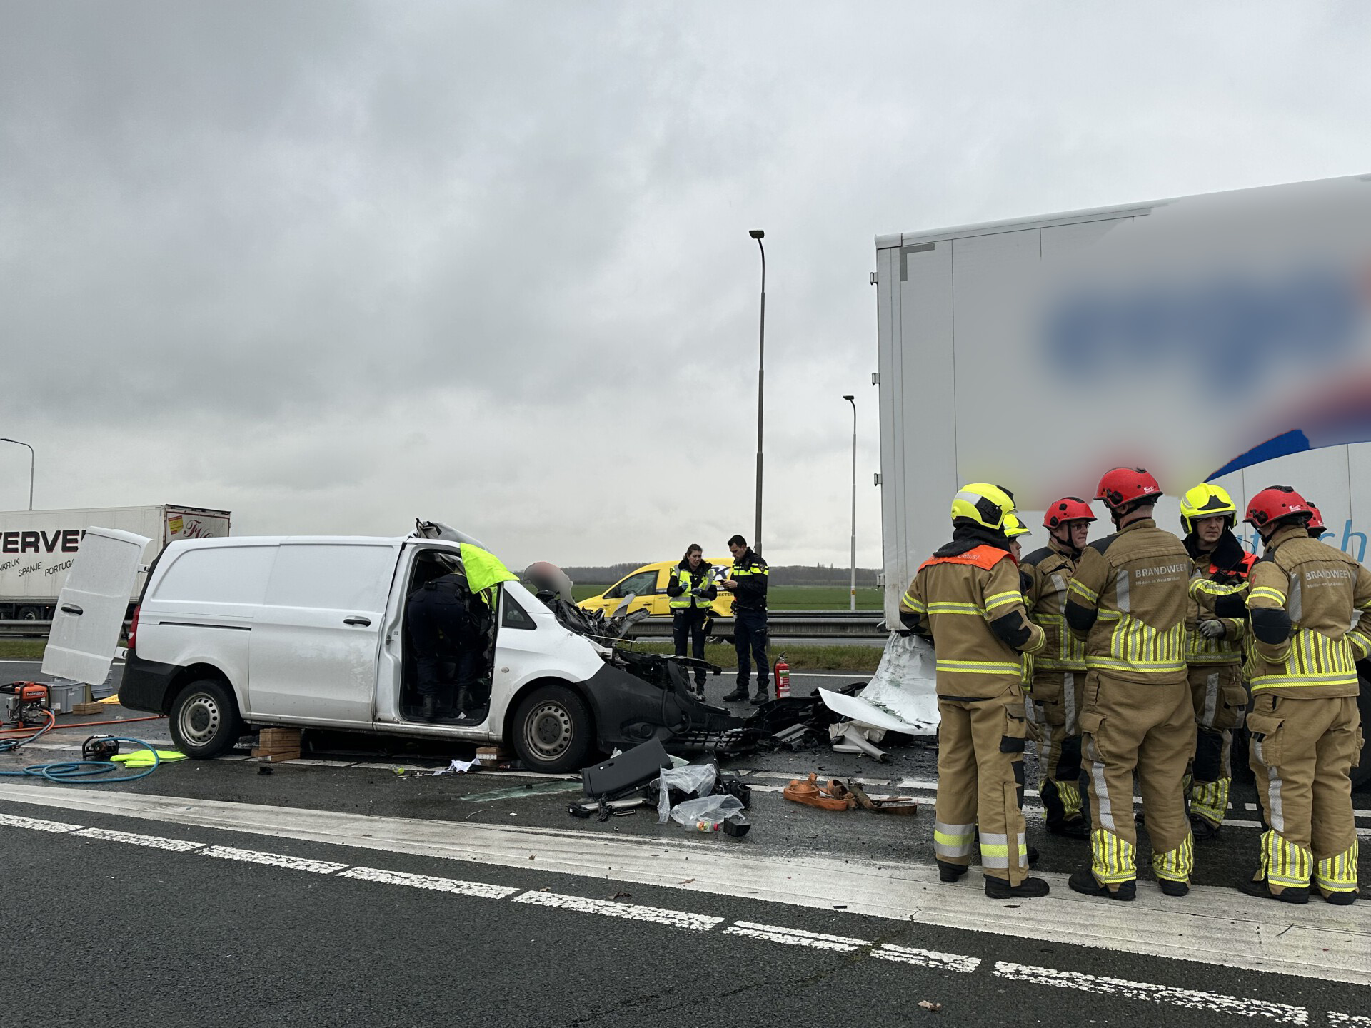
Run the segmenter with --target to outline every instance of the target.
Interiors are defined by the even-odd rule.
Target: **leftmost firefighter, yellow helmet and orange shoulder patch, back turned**
[[[951,541],[919,567],[899,603],[906,628],[938,650],[938,800],[934,855],[938,876],[967,873],[980,829],[986,895],[1047,895],[1028,876],[1024,835],[1024,720],[1021,654],[1042,648],[1028,620],[1019,569],[1005,536],[1013,499],[986,482],[951,502]]]

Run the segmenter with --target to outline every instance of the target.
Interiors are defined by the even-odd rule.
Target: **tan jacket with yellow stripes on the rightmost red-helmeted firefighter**
[[[1356,662],[1371,655],[1371,572],[1287,525],[1268,540],[1248,585],[1252,691],[1356,696]]]

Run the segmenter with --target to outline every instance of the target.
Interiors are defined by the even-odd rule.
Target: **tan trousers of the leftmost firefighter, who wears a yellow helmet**
[[[1028,840],[1020,810],[1024,787],[1023,692],[993,699],[938,698],[938,802],[934,855],[971,864],[980,828],[980,866],[1017,885],[1028,877]]]

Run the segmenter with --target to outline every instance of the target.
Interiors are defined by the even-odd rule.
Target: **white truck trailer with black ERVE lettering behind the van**
[[[160,503],[151,507],[0,511],[0,621],[51,621],[58,595],[92,525],[151,539],[145,559],[175,539],[229,535],[229,511]],[[143,576],[129,598],[134,603]]]

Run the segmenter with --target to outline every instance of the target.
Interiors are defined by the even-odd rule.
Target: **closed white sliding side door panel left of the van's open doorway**
[[[376,665],[399,544],[282,540],[252,626],[251,715],[373,722]]]

